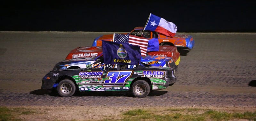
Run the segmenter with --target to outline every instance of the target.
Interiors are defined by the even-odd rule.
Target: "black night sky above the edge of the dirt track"
[[[130,32],[150,13],[177,32],[256,32],[254,1],[2,1],[0,31]]]

